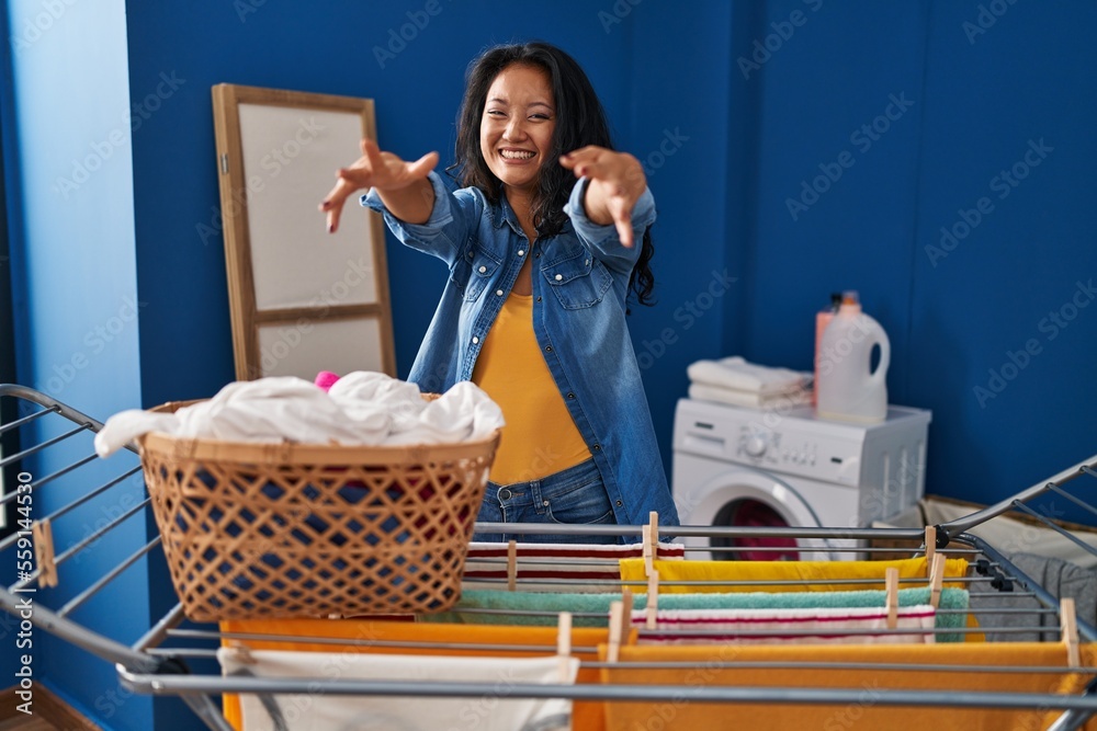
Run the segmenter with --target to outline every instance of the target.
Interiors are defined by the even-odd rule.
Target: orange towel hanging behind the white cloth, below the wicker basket
[[[353,644],[324,644],[319,642],[294,642],[292,640],[226,640],[224,644],[242,643],[255,650],[294,650],[298,652],[365,652],[365,653],[402,653],[432,655],[491,655],[505,658],[528,658],[529,652],[513,651],[509,648],[520,644],[544,647],[546,652],[556,649],[555,627],[508,627],[500,625],[433,625],[410,621],[373,621],[367,619],[250,619],[223,621],[222,632],[248,632],[253,635],[274,635],[284,637],[323,637],[347,640],[385,640],[396,642],[444,642],[462,644],[487,644],[486,650],[455,650],[431,647],[370,647]],[[608,641],[607,629],[574,628],[572,630],[573,648],[593,648]],[[635,630],[627,641],[635,642]],[[579,660],[593,661],[593,652],[573,653]],[[584,670],[579,666],[576,684],[595,684],[599,682],[598,672]],[[402,699],[400,703],[406,703]],[[414,700],[412,700],[414,703]],[[234,729],[242,728],[240,719],[240,703],[235,694],[224,696],[225,719]],[[601,701],[576,701],[572,708],[573,728],[601,731],[604,728],[606,711]]]

